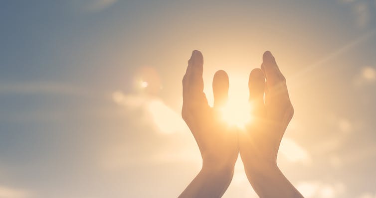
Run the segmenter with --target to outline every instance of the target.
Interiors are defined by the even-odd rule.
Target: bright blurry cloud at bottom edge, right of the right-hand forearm
[[[325,184],[318,181],[301,182],[296,185],[296,189],[305,198],[337,198],[346,191],[343,183]]]

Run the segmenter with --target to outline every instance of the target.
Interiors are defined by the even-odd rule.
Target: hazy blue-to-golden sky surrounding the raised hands
[[[375,0],[34,0],[0,6],[0,198],[178,197],[192,50],[231,96],[270,50],[295,109],[278,165],[306,198],[376,198]],[[236,100],[237,98],[234,98]],[[224,198],[257,198],[240,160]]]

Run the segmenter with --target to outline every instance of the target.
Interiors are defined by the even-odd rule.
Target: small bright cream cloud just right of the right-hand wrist
[[[303,164],[310,164],[312,162],[309,153],[288,137],[282,139],[278,153],[282,154],[290,162],[301,162]]]

